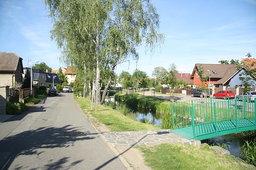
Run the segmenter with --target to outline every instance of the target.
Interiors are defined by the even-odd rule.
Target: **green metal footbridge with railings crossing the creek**
[[[200,98],[171,103],[173,130],[187,139],[256,130],[256,102],[250,99]]]

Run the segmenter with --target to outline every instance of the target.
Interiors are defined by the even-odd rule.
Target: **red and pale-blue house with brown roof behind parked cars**
[[[235,87],[240,85],[239,76],[243,76],[244,70],[248,68],[246,65],[240,65],[244,70],[237,70],[236,64],[196,64],[190,79],[194,81],[195,85],[198,85],[197,87],[202,85],[198,75],[200,66],[204,70],[203,77],[210,75],[210,80],[208,79],[206,84],[209,84],[210,81],[215,87]]]

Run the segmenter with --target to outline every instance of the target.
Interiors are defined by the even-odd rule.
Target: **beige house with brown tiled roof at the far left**
[[[0,52],[0,86],[11,86],[14,82],[22,82],[22,58],[15,53]]]

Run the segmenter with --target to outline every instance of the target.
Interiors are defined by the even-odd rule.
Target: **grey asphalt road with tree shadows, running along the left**
[[[73,93],[47,97],[0,131],[0,169],[126,169]]]

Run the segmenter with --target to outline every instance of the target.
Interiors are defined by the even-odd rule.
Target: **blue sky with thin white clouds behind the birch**
[[[151,77],[155,67],[171,63],[181,73],[191,73],[195,63],[218,64],[220,60],[256,57],[256,0],[153,0],[160,15],[165,42],[150,57],[139,49],[140,59],[117,66],[132,73],[136,67]],[[0,0],[0,51],[45,62],[53,70],[60,66],[60,52],[49,31],[41,0]]]

